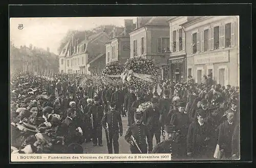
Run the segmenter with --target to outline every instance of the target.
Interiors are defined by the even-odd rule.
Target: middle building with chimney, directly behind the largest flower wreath
[[[130,33],[131,57],[154,59],[161,66],[162,80],[166,79],[169,53],[170,17],[138,17],[136,28]]]

